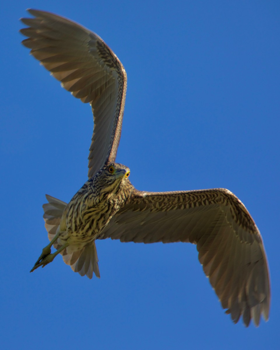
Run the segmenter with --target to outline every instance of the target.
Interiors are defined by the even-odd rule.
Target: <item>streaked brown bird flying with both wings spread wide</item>
[[[116,162],[127,75],[114,52],[91,30],[62,16],[28,9],[22,44],[61,86],[93,113],[88,179],[65,203],[46,195],[43,218],[50,243],[33,272],[61,254],[74,272],[100,277],[95,241],[196,244],[226,314],[246,327],[269,318],[270,279],[260,232],[244,204],[228,189],[148,192],[130,182]],[[51,248],[56,251],[51,253]]]

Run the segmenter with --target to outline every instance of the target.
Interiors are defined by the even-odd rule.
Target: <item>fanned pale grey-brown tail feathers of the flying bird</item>
[[[43,204],[43,218],[45,228],[48,231],[48,238],[51,241],[57,233],[67,203],[49,195],[46,195],[46,198],[49,203]],[[58,249],[61,245],[56,241],[53,246]],[[94,272],[100,278],[95,242],[88,243],[78,251],[73,251],[72,248],[69,246],[61,252],[65,264],[70,265],[72,270],[78,272],[81,276],[87,275],[87,277],[92,278]]]

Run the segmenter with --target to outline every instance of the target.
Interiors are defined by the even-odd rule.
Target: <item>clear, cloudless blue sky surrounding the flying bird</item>
[[[136,4],[136,5],[135,5]],[[191,244],[97,241],[101,279],[47,245],[45,193],[87,180],[91,108],[64,91],[18,33],[25,9],[93,30],[128,76],[117,161],[140,190],[228,188],[268,256],[271,315],[224,314]],[[279,349],[279,1],[6,1],[1,5],[2,349]]]

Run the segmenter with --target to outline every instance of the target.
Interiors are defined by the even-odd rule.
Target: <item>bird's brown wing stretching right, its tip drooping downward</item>
[[[122,242],[190,242],[223,308],[236,323],[269,316],[269,272],[261,235],[229,190],[136,192],[99,238]]]

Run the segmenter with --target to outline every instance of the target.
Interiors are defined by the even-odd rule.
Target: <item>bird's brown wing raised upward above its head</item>
[[[92,107],[94,132],[89,178],[116,159],[123,121],[126,72],[114,52],[92,31],[55,14],[28,10],[22,43],[64,89]]]

